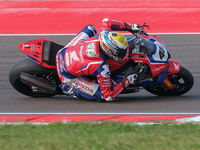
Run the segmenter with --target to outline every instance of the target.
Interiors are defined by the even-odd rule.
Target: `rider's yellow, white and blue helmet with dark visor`
[[[126,56],[127,39],[118,32],[102,32],[99,36],[103,52],[110,58],[120,61]]]

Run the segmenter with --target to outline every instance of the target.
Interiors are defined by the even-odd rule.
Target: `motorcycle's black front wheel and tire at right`
[[[145,89],[148,92],[158,96],[180,96],[187,93],[194,84],[194,78],[192,74],[184,67],[181,67],[177,74],[170,75],[168,78],[173,84],[172,90],[169,90],[163,84],[145,87]]]

